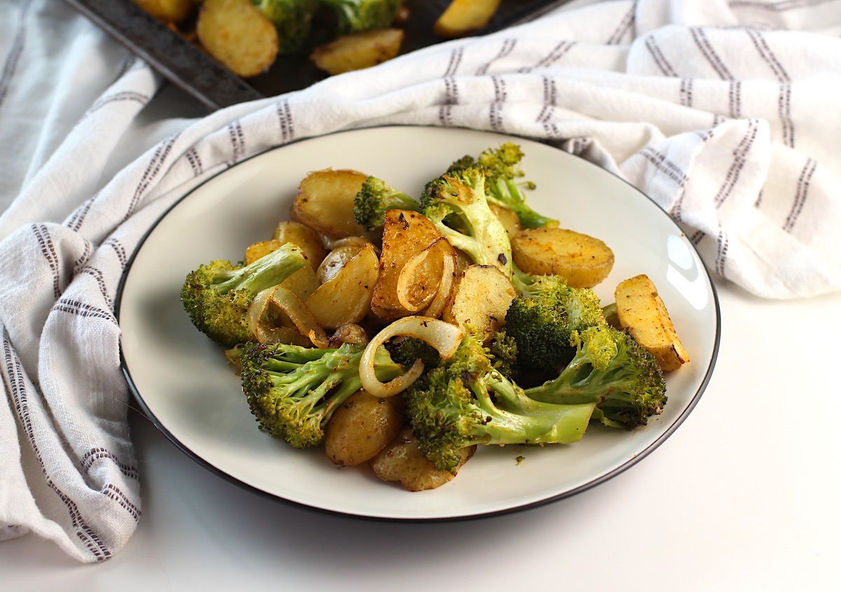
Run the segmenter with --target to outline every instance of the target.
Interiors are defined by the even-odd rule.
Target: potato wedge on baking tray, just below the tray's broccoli
[[[316,47],[309,59],[315,67],[331,75],[362,70],[397,56],[403,35],[403,29],[393,28],[343,35]]]

